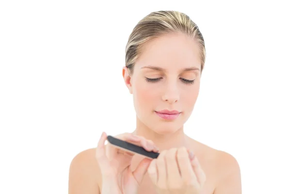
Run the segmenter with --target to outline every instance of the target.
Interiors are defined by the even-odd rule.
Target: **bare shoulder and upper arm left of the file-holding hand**
[[[68,194],[100,194],[97,173],[94,149],[79,153],[70,164]]]

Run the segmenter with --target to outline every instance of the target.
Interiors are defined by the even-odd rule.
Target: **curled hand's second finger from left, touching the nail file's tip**
[[[158,181],[157,186],[161,189],[167,188],[167,166],[165,162],[165,155],[167,153],[167,150],[164,150],[160,153],[160,155],[157,158],[157,174],[158,174]]]

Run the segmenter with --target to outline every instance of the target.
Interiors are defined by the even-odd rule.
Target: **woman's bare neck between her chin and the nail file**
[[[151,140],[159,148],[160,152],[173,147],[189,147],[189,138],[184,133],[183,127],[174,133],[159,134],[149,129],[139,119],[137,119],[136,129],[132,132],[135,135],[143,136],[147,140]]]

